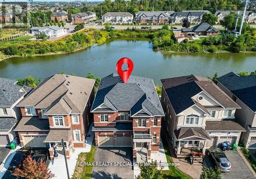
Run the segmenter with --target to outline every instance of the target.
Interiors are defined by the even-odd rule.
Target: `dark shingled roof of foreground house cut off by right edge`
[[[256,112],[256,75],[238,76],[230,72],[217,80]]]

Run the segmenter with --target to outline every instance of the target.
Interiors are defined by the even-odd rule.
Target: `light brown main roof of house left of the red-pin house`
[[[43,80],[17,106],[48,108],[47,115],[81,114],[94,83],[93,79],[56,74]]]

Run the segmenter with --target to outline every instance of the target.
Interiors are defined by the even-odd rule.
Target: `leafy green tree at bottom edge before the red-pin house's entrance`
[[[136,177],[136,179],[160,179],[162,178],[162,169],[158,170],[158,165],[157,161],[153,160],[151,161],[150,165],[147,163],[142,163],[139,168],[140,168],[140,174]]]

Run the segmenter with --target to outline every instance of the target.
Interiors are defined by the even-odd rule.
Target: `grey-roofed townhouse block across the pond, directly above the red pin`
[[[130,12],[106,12],[102,16],[102,23],[132,24],[133,14],[131,14]]]

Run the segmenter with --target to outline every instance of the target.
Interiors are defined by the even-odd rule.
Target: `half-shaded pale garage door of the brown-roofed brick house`
[[[26,135],[22,136],[23,144],[29,147],[46,147],[44,140],[47,135]]]

